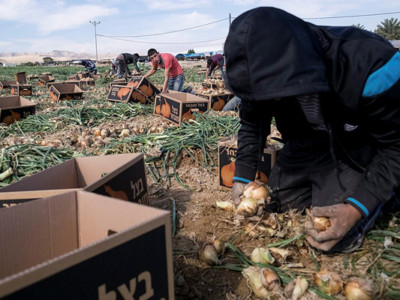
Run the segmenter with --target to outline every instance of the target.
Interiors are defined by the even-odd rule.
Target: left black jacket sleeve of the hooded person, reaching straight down
[[[255,179],[260,151],[270,133],[271,120],[266,102],[242,99],[234,181],[249,182]]]

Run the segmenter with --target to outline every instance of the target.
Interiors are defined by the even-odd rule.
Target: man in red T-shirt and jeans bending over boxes
[[[185,75],[175,56],[170,53],[158,53],[157,50],[153,48],[147,51],[147,55],[149,56],[153,68],[150,69],[144,77],[150,77],[158,70],[158,67],[160,67],[165,70],[162,92],[168,92],[168,90],[182,91]]]

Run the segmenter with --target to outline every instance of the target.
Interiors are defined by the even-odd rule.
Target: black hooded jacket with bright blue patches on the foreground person
[[[254,179],[275,117],[285,141],[313,144],[308,157],[293,153],[291,167],[308,159],[312,168],[333,147],[334,156],[364,171],[351,195],[361,205],[350,204],[365,216],[391,198],[400,182],[400,54],[389,42],[260,7],[234,20],[224,53],[229,85],[242,99],[234,180]],[[313,129],[297,101],[315,93],[326,132]]]

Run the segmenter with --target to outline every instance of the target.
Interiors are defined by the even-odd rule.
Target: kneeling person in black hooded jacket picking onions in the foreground
[[[357,249],[398,204],[400,53],[371,32],[316,26],[272,7],[237,17],[224,50],[242,99],[232,200],[255,179],[275,118],[285,146],[269,177],[269,208],[311,206],[331,222],[320,232],[307,222],[312,246]]]

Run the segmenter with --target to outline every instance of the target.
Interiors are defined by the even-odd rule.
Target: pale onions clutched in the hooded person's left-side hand
[[[268,196],[267,185],[262,182],[252,181],[245,186],[236,212],[246,217],[254,216],[260,206],[265,206]]]

